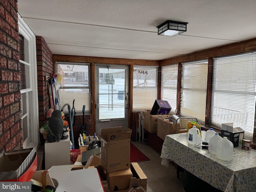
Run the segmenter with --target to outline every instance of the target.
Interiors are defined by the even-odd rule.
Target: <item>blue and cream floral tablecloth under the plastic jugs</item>
[[[234,148],[233,159],[223,161],[207,149],[188,144],[188,133],[167,135],[161,158],[176,164],[224,192],[256,191],[256,150]],[[204,140],[205,132],[202,132]]]

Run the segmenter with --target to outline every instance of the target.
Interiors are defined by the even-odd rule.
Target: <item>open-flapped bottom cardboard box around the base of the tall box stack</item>
[[[108,181],[106,180],[106,172],[102,166],[97,166],[100,178],[102,178],[102,186],[105,192],[112,192],[109,190]],[[147,191],[147,177],[140,168],[138,163],[130,163],[130,170],[132,172],[132,178],[130,178],[130,184],[127,189],[119,190],[117,192],[146,192]]]

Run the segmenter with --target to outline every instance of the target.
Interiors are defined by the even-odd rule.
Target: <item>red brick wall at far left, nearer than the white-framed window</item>
[[[17,12],[15,0],[0,0],[0,152],[23,144]]]

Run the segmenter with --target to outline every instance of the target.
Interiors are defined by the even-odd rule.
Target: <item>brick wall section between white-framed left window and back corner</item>
[[[46,114],[49,109],[47,76],[53,74],[52,52],[42,36],[36,36],[36,60],[37,60],[37,82],[38,82],[38,110],[39,127],[46,124]],[[44,142],[42,134],[40,141]]]

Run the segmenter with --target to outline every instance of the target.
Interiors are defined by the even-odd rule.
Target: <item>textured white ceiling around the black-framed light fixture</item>
[[[18,0],[53,54],[162,60],[256,38],[256,0]],[[166,20],[187,32],[158,36]]]

